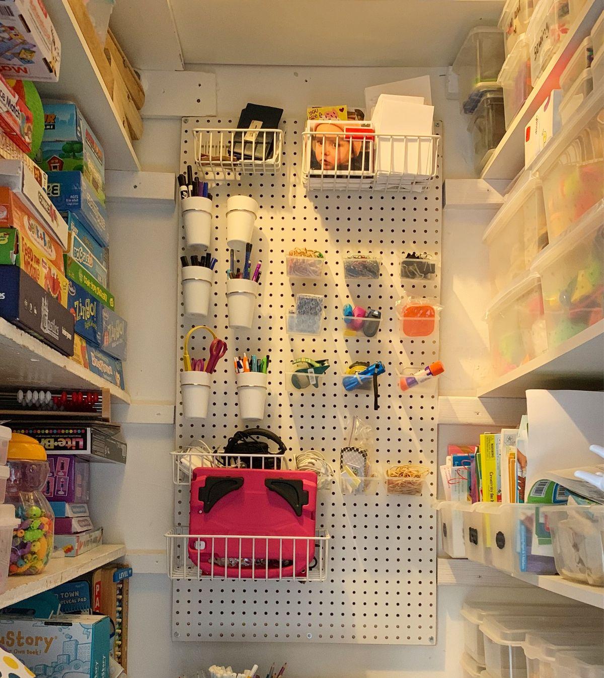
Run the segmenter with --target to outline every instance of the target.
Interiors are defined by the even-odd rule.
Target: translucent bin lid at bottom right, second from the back
[[[599,614],[595,614],[595,613]],[[577,616],[571,610],[563,612],[552,613],[547,610],[548,614],[544,614],[544,610],[539,610],[538,616],[520,616],[514,614],[513,616],[487,616],[480,625],[480,630],[487,638],[490,638],[498,645],[511,645],[512,647],[520,647],[526,639],[527,633],[544,632],[549,629],[577,629]],[[598,626],[602,628],[601,612],[599,608],[594,608],[594,613],[581,612],[582,619],[585,621],[586,614],[589,614],[588,619],[593,622],[593,628]],[[584,624],[587,626],[587,624]],[[589,628],[592,625],[589,624]],[[604,633],[604,629],[603,629]]]

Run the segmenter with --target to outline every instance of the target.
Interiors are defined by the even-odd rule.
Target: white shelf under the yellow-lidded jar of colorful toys
[[[121,558],[125,553],[126,547],[122,544],[103,544],[75,558],[52,558],[41,574],[9,577],[6,591],[0,595],[0,607],[7,607],[53,589],[54,586]]]

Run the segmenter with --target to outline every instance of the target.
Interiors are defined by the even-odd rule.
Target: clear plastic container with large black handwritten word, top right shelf
[[[542,0],[527,26],[533,87],[558,51],[585,0]]]

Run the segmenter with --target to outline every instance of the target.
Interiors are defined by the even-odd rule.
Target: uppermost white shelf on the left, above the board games
[[[46,0],[45,5],[61,41],[61,68],[58,83],[36,83],[40,96],[75,102],[103,146],[106,169],[137,172],[140,163],[132,141],[68,0]]]

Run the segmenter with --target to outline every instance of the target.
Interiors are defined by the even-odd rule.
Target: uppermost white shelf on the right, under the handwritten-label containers
[[[513,179],[524,167],[524,130],[537,109],[546,100],[552,89],[558,89],[559,79],[571,56],[589,35],[597,18],[604,9],[604,0],[588,0],[579,16],[563,39],[561,47],[545,71],[541,74],[519,113],[499,142],[495,152],[485,165],[483,179]]]

